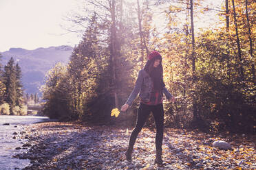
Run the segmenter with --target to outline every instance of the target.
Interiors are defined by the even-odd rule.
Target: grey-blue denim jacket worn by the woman
[[[138,73],[136,84],[134,86],[134,90],[132,90],[131,95],[129,96],[125,104],[131,106],[132,101],[134,101],[138,93],[140,93],[139,96],[142,101],[148,102],[152,89],[153,82],[151,80],[151,77],[149,77],[149,74],[144,69],[140,70]],[[167,99],[171,99],[171,97],[173,97],[165,86],[162,89],[162,92],[167,97]]]

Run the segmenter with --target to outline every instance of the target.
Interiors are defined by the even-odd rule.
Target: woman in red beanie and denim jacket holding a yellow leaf
[[[121,111],[125,112],[140,92],[140,107],[138,108],[136,127],[131,132],[129,146],[125,156],[127,160],[131,160],[131,153],[138,133],[142,130],[150,112],[153,112],[153,117],[156,122],[155,164],[162,165],[162,138],[164,130],[163,93],[167,99],[171,99],[171,101],[175,101],[175,98],[169,93],[167,88],[165,88],[162,56],[160,53],[158,53],[158,51],[152,51],[147,58],[148,60],[144,69],[140,70],[138,73],[134,90],[121,108]]]

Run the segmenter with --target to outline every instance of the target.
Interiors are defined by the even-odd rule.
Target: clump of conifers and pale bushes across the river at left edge
[[[41,113],[41,101],[37,93],[25,94],[21,67],[10,58],[1,68],[0,55],[0,115],[36,115]],[[33,109],[33,110],[32,110]]]

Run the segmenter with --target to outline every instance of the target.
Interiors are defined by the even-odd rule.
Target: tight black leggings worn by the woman
[[[153,117],[156,123],[156,149],[162,150],[162,136],[164,131],[164,109],[162,104],[150,106],[140,103],[138,108],[137,123],[134,130],[131,132],[129,147],[134,147],[134,143],[138,133],[142,130],[145,122],[147,121],[150,112],[153,112]]]

